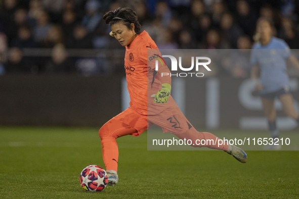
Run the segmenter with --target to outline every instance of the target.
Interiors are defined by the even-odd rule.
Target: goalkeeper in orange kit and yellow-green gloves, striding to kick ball
[[[125,47],[124,68],[131,99],[129,108],[113,117],[99,130],[108,184],[115,185],[118,182],[116,138],[124,135],[139,136],[153,124],[180,139],[191,139],[194,142],[213,140],[209,144],[206,142],[205,145],[193,146],[223,150],[238,161],[246,163],[247,155],[241,148],[226,142],[217,144],[220,138],[208,132],[198,132],[180,111],[170,95],[170,76],[161,76],[162,73],[170,73],[169,69],[165,65],[159,65],[158,71],[155,71],[154,61],[148,61],[148,50],[153,52],[153,56],[161,54],[149,34],[146,31],[140,32],[141,25],[135,11],[118,8],[107,12],[103,19],[106,24],[111,25],[110,35]]]

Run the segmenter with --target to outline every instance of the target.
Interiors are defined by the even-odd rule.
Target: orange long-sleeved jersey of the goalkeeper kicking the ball
[[[138,34],[130,45],[125,47],[124,69],[126,74],[127,89],[130,94],[130,106],[139,114],[157,114],[172,104],[170,96],[165,104],[154,104],[152,94],[161,89],[162,83],[171,84],[170,77],[161,78],[162,72],[169,72],[165,65],[159,63],[159,70],[155,71],[155,61],[148,64],[148,49],[150,53],[160,54],[156,43],[146,31]],[[154,49],[154,50],[152,50]],[[162,79],[162,83],[161,83]]]

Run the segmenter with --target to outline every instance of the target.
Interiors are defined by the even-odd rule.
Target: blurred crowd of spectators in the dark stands
[[[250,49],[259,17],[272,20],[273,34],[299,48],[296,0],[3,0],[0,74],[122,72],[124,48],[109,36],[111,28],[102,19],[118,7],[133,8],[160,49]],[[34,56],[29,48],[51,52]],[[73,55],[70,49],[78,51]],[[247,77],[245,65],[218,72]]]

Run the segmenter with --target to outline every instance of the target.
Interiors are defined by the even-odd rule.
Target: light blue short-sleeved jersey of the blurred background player
[[[261,68],[261,93],[274,92],[289,85],[286,59],[290,55],[286,42],[276,37],[272,37],[268,45],[260,42],[253,45],[250,64]]]

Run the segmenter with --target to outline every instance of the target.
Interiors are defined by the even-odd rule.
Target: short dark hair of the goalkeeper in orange
[[[122,22],[127,28],[132,29],[131,24],[135,25],[135,32],[140,33],[141,25],[138,21],[136,12],[131,8],[118,8],[115,11],[109,11],[105,13],[103,19],[106,24],[113,25],[118,22]]]

